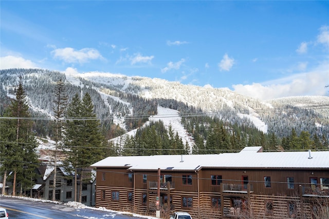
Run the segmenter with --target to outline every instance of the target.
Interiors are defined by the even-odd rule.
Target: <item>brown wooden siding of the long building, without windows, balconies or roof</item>
[[[97,168],[96,206],[118,211],[129,211],[141,215],[155,215],[155,189],[148,189],[149,182],[157,182],[157,171],[131,172],[125,168]],[[102,180],[105,173],[105,181]],[[134,174],[132,182],[128,174]],[[143,183],[143,174],[147,175],[147,183]],[[182,184],[182,175],[192,175],[192,185]],[[170,190],[172,197],[172,211],[187,211],[193,218],[226,218],[224,212],[234,207],[233,199],[243,198],[247,205],[241,209],[241,214],[251,218],[312,218],[313,202],[317,197],[301,196],[299,185],[309,185],[311,177],[329,177],[327,169],[221,169],[204,168],[194,171],[161,171],[161,175],[172,175],[175,188]],[[212,185],[211,175],[221,175],[222,184]],[[222,192],[223,184],[243,185],[242,176],[248,176],[248,183],[252,185],[250,194],[242,192]],[[264,176],[270,177],[270,188],[265,187]],[[286,177],[294,177],[294,189],[288,189]],[[105,199],[101,200],[101,191],[105,190]],[[118,201],[112,200],[112,191],[119,191]],[[133,202],[127,201],[127,194],[132,192]],[[142,203],[142,195],[147,194],[147,204]],[[161,190],[161,194],[168,195],[168,190]],[[249,195],[249,196],[248,196]],[[182,197],[192,197],[191,208],[182,207]],[[213,208],[211,198],[221,198],[224,212],[220,208]],[[327,198],[327,203],[329,203]],[[306,200],[306,201],[305,201]],[[266,203],[270,202],[271,210],[266,210]],[[295,215],[289,214],[289,203],[296,210]],[[235,206],[236,208],[236,206]],[[291,213],[291,212],[290,212]]]

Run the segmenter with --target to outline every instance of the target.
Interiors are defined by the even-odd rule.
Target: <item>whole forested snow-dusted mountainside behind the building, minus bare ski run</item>
[[[31,116],[35,118],[33,129],[40,137],[53,137],[50,121],[54,115],[54,91],[56,82],[62,80],[68,102],[76,94],[80,98],[86,93],[90,95],[107,140],[142,127],[149,116],[157,114],[157,106],[162,106],[179,111],[182,126],[193,138],[193,153],[218,153],[245,146],[263,146],[269,150],[327,148],[329,97],[325,96],[261,102],[229,89],[182,85],[158,78],[7,69],[1,70],[2,116],[9,99],[14,97],[20,75]],[[129,149],[140,145],[150,148],[155,144],[151,138],[161,142],[155,144],[158,149],[186,153],[187,144],[179,140],[177,133],[166,130],[161,123],[151,123],[125,140],[125,150],[116,149],[116,153],[136,154],[136,150]],[[171,153],[159,151],[154,153]]]

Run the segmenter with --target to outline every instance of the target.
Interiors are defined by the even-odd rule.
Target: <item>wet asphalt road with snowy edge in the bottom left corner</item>
[[[63,204],[32,202],[12,197],[0,197],[0,207],[6,208],[9,213],[9,218],[24,218],[24,219],[62,219],[62,218],[115,218],[115,219],[132,219],[141,218],[133,217],[116,212],[101,211],[94,209],[78,209],[69,207]]]

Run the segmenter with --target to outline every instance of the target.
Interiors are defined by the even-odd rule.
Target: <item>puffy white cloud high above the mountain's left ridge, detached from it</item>
[[[86,63],[90,59],[103,59],[98,50],[93,48],[75,50],[74,48],[66,47],[54,49],[51,53],[54,58],[62,59],[66,63]]]

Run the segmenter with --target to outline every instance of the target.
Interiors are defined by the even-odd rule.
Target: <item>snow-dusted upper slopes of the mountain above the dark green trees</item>
[[[179,115],[202,113],[218,116],[231,123],[254,126],[264,133],[275,132],[278,136],[284,136],[295,128],[297,132],[304,130],[311,134],[324,133],[329,137],[327,96],[286,97],[262,102],[227,88],[183,85],[159,78],[100,72],[64,74],[42,69],[7,69],[1,70],[2,98],[13,97],[19,75],[23,76],[30,107],[44,116],[52,115],[53,90],[56,81],[62,78],[70,97],[75,93],[88,92],[93,98],[98,116],[113,118],[114,123],[127,131],[130,131],[126,126],[127,116],[151,116],[141,114],[139,106],[144,105],[145,108],[145,105],[157,103],[158,117],[153,115],[150,119],[166,120],[166,126],[179,123]],[[143,99],[144,103],[136,103],[138,99]],[[182,106],[184,111],[181,110]],[[183,129],[176,125],[173,128]],[[189,138],[184,136],[184,131],[179,133],[182,139]],[[187,142],[191,140],[187,139]]]

